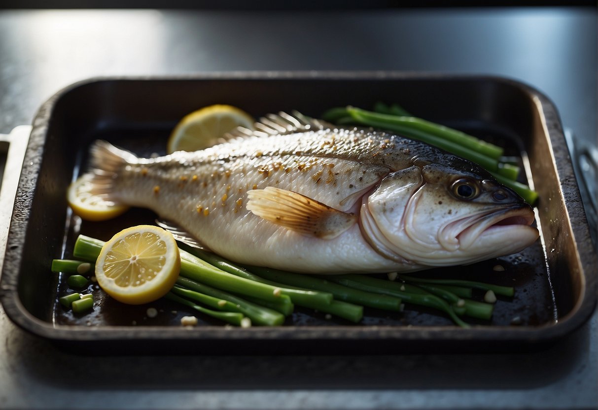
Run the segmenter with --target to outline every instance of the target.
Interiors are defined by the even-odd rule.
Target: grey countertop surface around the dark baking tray
[[[596,17],[595,8],[0,11],[0,133],[96,76],[398,70],[526,82],[596,145]],[[598,406],[598,313],[556,345],[518,354],[75,356],[1,310],[0,335],[0,408]]]

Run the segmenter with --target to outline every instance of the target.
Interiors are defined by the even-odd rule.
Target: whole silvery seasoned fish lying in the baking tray
[[[426,143],[298,114],[257,129],[158,158],[97,141],[92,180],[231,261],[303,273],[471,264],[539,236],[514,191]]]

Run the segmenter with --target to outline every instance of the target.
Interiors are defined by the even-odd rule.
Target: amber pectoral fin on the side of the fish
[[[357,222],[357,216],[334,209],[297,192],[267,186],[248,192],[254,215],[302,235],[332,239]]]

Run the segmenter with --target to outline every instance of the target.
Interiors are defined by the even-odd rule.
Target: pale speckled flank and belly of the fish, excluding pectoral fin
[[[127,166],[113,196],[153,210],[213,252],[243,264],[321,274],[411,270],[376,253],[358,224],[325,240],[280,227],[245,207],[248,191],[275,186],[358,214],[362,195],[388,172],[385,166],[343,158],[214,160],[181,153]]]

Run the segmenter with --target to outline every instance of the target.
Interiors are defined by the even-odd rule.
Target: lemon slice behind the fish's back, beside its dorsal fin
[[[197,151],[218,143],[225,133],[239,126],[253,129],[254,119],[231,105],[210,105],[185,117],[170,134],[167,152]]]

